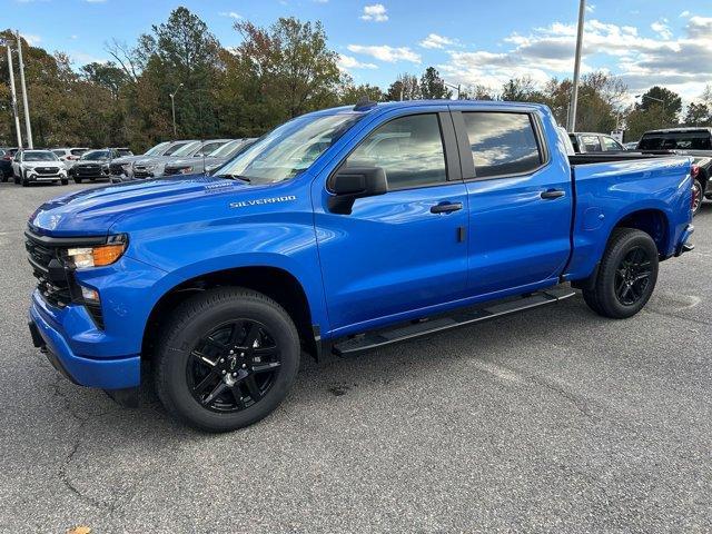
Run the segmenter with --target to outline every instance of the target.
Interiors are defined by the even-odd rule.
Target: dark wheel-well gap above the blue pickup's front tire
[[[299,279],[281,267],[269,265],[243,266],[206,271],[174,285],[154,304],[144,327],[141,357],[150,359],[155,343],[170,310],[180,303],[212,287],[245,287],[267,295],[277,301],[295,323],[303,348],[313,356],[318,355],[313,323],[313,309],[307,293]]]

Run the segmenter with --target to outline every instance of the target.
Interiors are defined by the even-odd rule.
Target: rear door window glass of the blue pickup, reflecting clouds
[[[544,161],[528,113],[463,112],[477,178],[532,172]]]

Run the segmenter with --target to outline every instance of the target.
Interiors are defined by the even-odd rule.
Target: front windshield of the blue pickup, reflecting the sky
[[[281,181],[308,169],[358,119],[359,112],[298,117],[275,128],[216,172],[245,181]]]

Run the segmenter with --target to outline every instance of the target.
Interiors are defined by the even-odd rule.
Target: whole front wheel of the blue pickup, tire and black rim
[[[277,303],[244,288],[209,289],[182,303],[164,328],[156,390],[177,419],[207,432],[234,431],[260,421],[284,400],[299,369],[299,353],[294,322]],[[266,370],[270,365],[276,367]],[[238,382],[228,386],[231,376]]]

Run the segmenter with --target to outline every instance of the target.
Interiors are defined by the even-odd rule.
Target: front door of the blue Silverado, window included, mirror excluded
[[[425,122],[435,125],[436,137],[423,128],[423,115],[421,119],[399,117],[365,134],[342,164],[384,168],[387,194],[359,198],[350,215],[338,215],[328,208],[333,195],[323,186],[327,177],[315,181],[317,243],[335,334],[356,332],[368,322],[385,323],[397,314],[415,314],[465,294],[467,247],[461,228],[467,225],[467,189],[459,179],[459,166],[445,164],[449,159],[438,116],[427,115]],[[441,115],[439,123],[447,130],[446,148],[453,156],[449,113]],[[462,209],[433,209],[446,202],[459,202]]]

